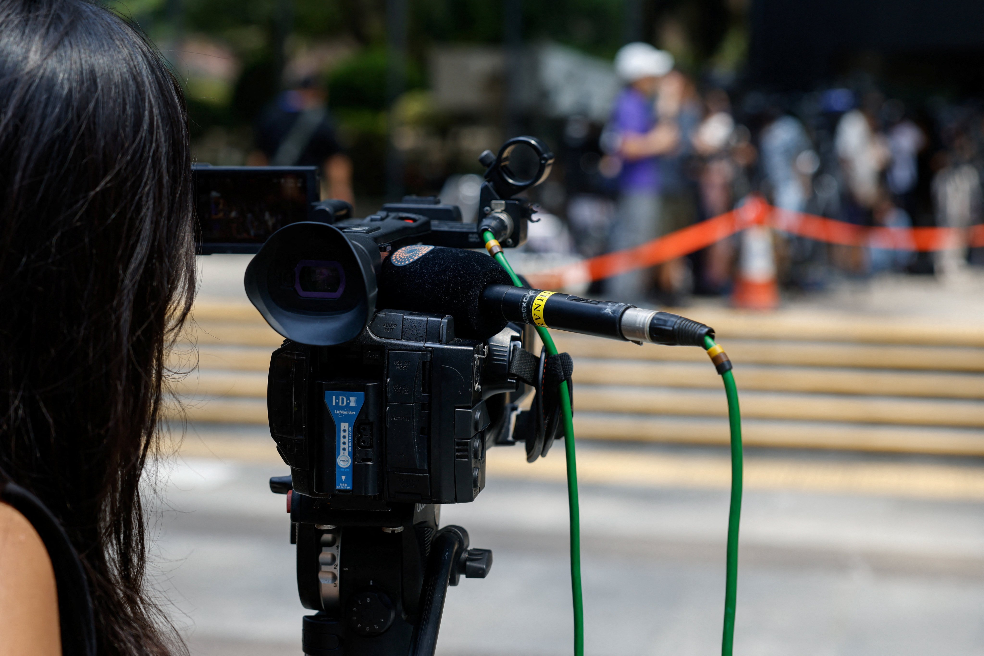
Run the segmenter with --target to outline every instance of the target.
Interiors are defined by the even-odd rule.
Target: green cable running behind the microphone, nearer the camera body
[[[488,230],[482,232],[486,244],[495,237]],[[509,273],[510,279],[517,287],[523,287],[523,281],[516,271],[509,266],[506,256],[496,253],[495,261]],[[557,355],[557,345],[547,328],[537,326],[543,345],[549,355]],[[564,417],[564,452],[567,455],[567,501],[571,508],[571,593],[574,598],[574,654],[584,656],[584,599],[581,594],[581,510],[578,505],[578,461],[574,452],[574,411],[571,408],[571,393],[567,381],[560,384],[560,407]],[[734,614],[732,613],[732,616]]]

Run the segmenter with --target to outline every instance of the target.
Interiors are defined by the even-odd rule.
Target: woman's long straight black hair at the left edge
[[[194,292],[190,168],[181,89],[136,30],[0,0],[0,467],[79,551],[100,654],[177,644],[140,478]]]

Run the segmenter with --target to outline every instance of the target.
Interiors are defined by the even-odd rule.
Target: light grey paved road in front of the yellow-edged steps
[[[244,454],[269,441],[255,429],[231,435]],[[590,448],[611,447],[585,446],[585,457]],[[298,654],[306,612],[283,497],[267,489],[283,466],[226,453],[159,470],[159,585],[194,654]],[[719,650],[726,508],[719,489],[583,486],[588,654]],[[982,510],[980,501],[750,491],[736,653],[984,653]],[[495,566],[451,590],[438,653],[569,654],[563,484],[493,478],[474,504],[444,507],[442,521],[492,548]]]

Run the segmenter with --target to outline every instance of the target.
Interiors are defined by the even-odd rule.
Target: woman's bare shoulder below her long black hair
[[[31,522],[0,503],[0,656],[61,654],[51,559]]]

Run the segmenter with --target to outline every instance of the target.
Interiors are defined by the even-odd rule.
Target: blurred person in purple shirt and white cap
[[[610,241],[618,251],[655,239],[660,234],[659,157],[677,148],[680,133],[677,93],[656,93],[673,69],[673,56],[648,43],[629,43],[615,57],[615,73],[625,83],[612,108],[606,133],[611,150],[622,162],[619,203]],[[672,90],[672,89],[670,89]],[[646,303],[646,270],[608,280],[608,293],[627,303]]]

